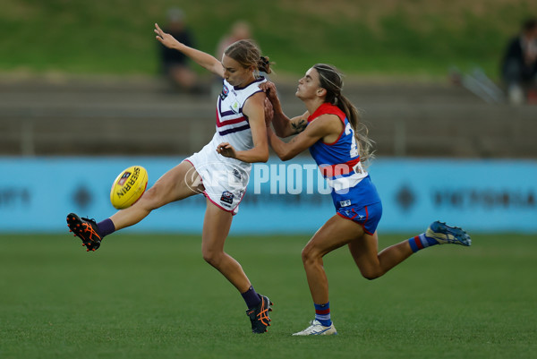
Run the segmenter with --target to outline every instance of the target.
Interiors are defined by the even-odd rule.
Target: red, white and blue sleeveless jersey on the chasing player
[[[308,117],[311,124],[320,115],[337,115],[343,130],[336,141],[326,143],[322,140],[310,147],[311,157],[315,159],[320,174],[332,189],[332,200],[337,209],[350,205],[368,205],[380,201],[370,175],[360,163],[360,153],[354,137],[353,126],[339,107],[322,104]]]

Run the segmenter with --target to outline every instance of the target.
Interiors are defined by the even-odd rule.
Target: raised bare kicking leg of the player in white
[[[115,230],[130,227],[140,222],[153,209],[202,192],[203,187],[199,182],[199,177],[194,172],[192,164],[183,161],[162,175],[131,207],[122,209],[110,217],[114,222]]]

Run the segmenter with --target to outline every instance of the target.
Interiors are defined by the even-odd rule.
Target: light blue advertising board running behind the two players
[[[150,186],[182,159],[0,158],[0,232],[65,231],[69,212],[107,218],[124,168],[146,167]],[[419,233],[436,219],[469,232],[537,233],[537,161],[377,158],[369,171],[383,201],[382,233]],[[195,195],[125,230],[198,234],[205,208]],[[334,213],[311,158],[271,158],[253,166],[231,233],[312,234]]]

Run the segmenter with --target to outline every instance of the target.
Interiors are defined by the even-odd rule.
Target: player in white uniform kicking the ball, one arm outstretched
[[[265,126],[265,93],[259,84],[270,73],[268,58],[250,40],[237,41],[226,48],[221,60],[187,47],[155,24],[157,40],[181,51],[193,61],[224,79],[217,98],[217,132],[200,152],[162,175],[132,207],[116,212],[99,223],[71,213],[67,224],[88,250],[95,251],[105,235],[130,227],[147,217],[153,209],[180,201],[197,193],[207,198],[201,252],[203,259],[218,269],[243,295],[253,333],[267,331],[270,301],[258,295],[241,265],[224,252],[233,215],[248,184],[251,163],[268,160]]]

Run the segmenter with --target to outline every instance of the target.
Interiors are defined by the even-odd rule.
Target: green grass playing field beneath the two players
[[[387,235],[380,247],[408,235]],[[187,235],[0,236],[0,357],[534,358],[537,237],[473,235],[419,252],[384,278],[345,249],[325,266],[333,337],[294,338],[312,319],[303,236],[232,236],[226,250],[275,303],[252,335],[242,298]]]

